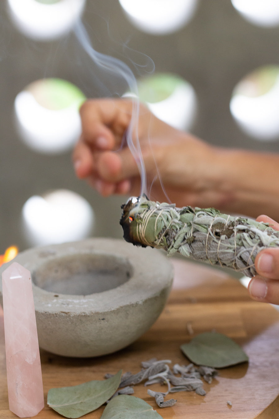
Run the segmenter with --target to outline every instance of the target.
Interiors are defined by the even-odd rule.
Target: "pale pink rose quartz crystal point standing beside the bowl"
[[[31,274],[13,262],[2,285],[9,408],[21,418],[35,416],[44,391]]]

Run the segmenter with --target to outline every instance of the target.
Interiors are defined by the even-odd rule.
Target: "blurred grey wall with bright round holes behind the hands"
[[[147,57],[155,65],[155,93],[150,102],[165,100],[173,91],[179,95],[179,86],[184,86],[182,93],[187,97],[183,99],[181,93],[174,96],[179,100],[169,102],[171,112],[167,114],[176,115],[185,105],[182,119],[174,124],[215,145],[278,152],[278,2],[160,1],[0,2],[0,254],[12,244],[22,251],[90,235],[122,237],[120,204],[128,197],[102,198],[79,181],[72,168],[71,149],[79,132],[73,112],[82,95],[121,96],[127,86],[97,69],[70,30],[76,19],[73,16],[81,17],[96,51],[122,60],[143,80],[143,98],[150,93],[150,86],[152,90],[152,79],[147,88],[144,85],[152,68]],[[21,4],[20,10],[16,3]],[[137,3],[138,9],[129,10],[129,3]],[[257,14],[259,3],[267,10]],[[67,16],[69,10],[73,16]],[[162,11],[173,19],[166,29],[156,23],[157,19],[164,21]],[[36,13],[44,18],[40,21]],[[144,22],[145,17],[149,22]],[[53,25],[44,28],[44,21]],[[51,26],[55,26],[54,34]],[[34,84],[49,79],[62,82]],[[63,80],[74,86],[63,84]],[[161,91],[160,83],[168,88]],[[28,94],[18,96],[20,92]],[[40,131],[46,134],[46,142],[47,135],[50,140],[55,135],[73,138],[65,148],[42,150],[34,143]],[[56,193],[61,190],[62,194]]]

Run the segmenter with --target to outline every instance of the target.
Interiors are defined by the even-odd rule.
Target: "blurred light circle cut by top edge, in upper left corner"
[[[8,0],[20,32],[37,41],[67,34],[82,15],[85,0]]]

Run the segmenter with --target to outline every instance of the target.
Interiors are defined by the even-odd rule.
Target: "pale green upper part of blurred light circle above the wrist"
[[[167,99],[179,85],[187,82],[177,75],[154,74],[138,83],[138,97],[142,102],[156,103]]]

